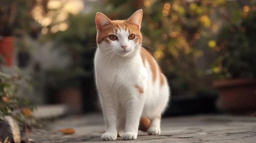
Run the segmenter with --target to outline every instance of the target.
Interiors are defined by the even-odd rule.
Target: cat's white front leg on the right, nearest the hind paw
[[[127,100],[124,140],[136,139],[145,102],[145,95],[135,93]]]

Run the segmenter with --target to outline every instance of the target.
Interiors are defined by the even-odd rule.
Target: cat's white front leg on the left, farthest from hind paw
[[[101,96],[103,114],[106,124],[106,132],[102,135],[103,140],[115,140],[117,138],[117,105],[111,95]]]

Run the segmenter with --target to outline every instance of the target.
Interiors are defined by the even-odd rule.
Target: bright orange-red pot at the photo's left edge
[[[0,54],[5,59],[5,64],[11,66],[13,62],[13,37],[3,37],[0,39]],[[2,63],[2,61],[0,61]]]

